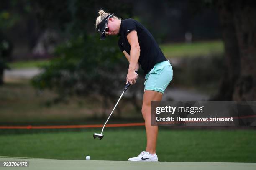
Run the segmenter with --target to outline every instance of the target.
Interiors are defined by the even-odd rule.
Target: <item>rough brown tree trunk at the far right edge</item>
[[[241,72],[233,100],[256,99],[256,6],[251,0],[233,3],[234,21],[241,58]]]

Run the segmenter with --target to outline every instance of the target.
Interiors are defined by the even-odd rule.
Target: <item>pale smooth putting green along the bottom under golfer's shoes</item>
[[[129,162],[104,160],[53,160],[0,158],[3,161],[28,161],[28,167],[6,167],[8,170],[255,170],[256,163],[222,163],[222,162]],[[3,165],[0,165],[3,167]]]

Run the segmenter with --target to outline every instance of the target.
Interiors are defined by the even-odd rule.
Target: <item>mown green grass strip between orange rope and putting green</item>
[[[102,140],[82,132],[0,135],[1,156],[52,159],[127,160],[145,150],[144,127],[106,128]],[[172,130],[159,128],[160,161],[256,162],[256,132],[252,130]]]

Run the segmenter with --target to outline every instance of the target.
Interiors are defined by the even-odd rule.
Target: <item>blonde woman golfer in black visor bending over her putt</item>
[[[158,161],[156,140],[158,127],[151,126],[151,101],[161,101],[164,90],[172,80],[172,66],[165,58],[151,33],[138,21],[121,20],[113,14],[99,11],[96,28],[100,39],[106,36],[120,36],[118,46],[129,61],[126,83],[135,84],[139,65],[145,74],[145,88],[142,104],[142,115],[145,120],[147,146],[137,157],[129,161]]]

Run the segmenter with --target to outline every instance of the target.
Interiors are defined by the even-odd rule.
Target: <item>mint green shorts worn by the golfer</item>
[[[164,93],[164,90],[172,80],[172,66],[169,61],[157,63],[145,76],[145,90],[154,90]]]

